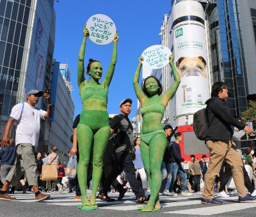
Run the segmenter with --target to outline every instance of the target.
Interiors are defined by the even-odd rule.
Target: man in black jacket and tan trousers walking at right
[[[252,129],[230,116],[225,101],[227,98],[228,90],[226,84],[216,82],[212,85],[211,99],[205,102],[208,105],[209,123],[209,130],[207,131],[205,142],[210,151],[211,160],[209,161],[208,170],[205,174],[202,204],[222,204],[221,201],[214,199],[213,184],[215,177],[220,172],[224,159],[232,168],[232,176],[234,177],[239,194],[239,202],[256,199],[256,197],[248,195],[244,190],[243,162],[236,151],[236,144],[231,140],[233,130],[230,125],[247,131],[249,135],[252,134]]]

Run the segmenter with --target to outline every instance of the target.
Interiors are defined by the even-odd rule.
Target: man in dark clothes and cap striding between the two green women
[[[140,183],[136,179],[135,175],[135,167],[132,163],[134,160],[134,150],[133,150],[133,128],[131,121],[128,116],[131,113],[131,104],[132,100],[127,98],[120,102],[120,110],[121,114],[113,117],[110,124],[110,133],[116,134],[115,139],[115,165],[113,166],[113,170],[108,177],[106,177],[106,181],[100,189],[98,197],[100,200],[104,201],[113,201],[114,199],[108,197],[108,190],[113,181],[115,181],[116,177],[121,174],[124,170],[126,177],[129,180],[132,191],[136,195],[136,203],[142,203],[149,199],[150,195],[144,195],[145,192],[143,188],[141,188]],[[124,197],[124,195],[122,195]],[[122,198],[118,197],[118,199]]]

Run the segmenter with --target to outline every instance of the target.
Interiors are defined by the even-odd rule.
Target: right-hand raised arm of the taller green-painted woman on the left
[[[118,37],[118,33],[116,31],[116,34],[115,34],[115,37],[114,37],[114,40],[113,40],[113,52],[112,52],[112,57],[111,57],[111,63],[108,67],[108,71],[107,71],[107,74],[106,74],[106,77],[105,79],[103,80],[104,82],[104,86],[105,88],[108,89],[109,87],[109,84],[113,78],[113,74],[114,74],[114,71],[115,71],[115,66],[116,66],[116,59],[117,59],[117,41],[118,41],[119,37]]]

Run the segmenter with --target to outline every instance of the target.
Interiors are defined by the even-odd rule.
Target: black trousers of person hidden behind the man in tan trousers
[[[243,165],[243,172],[244,172],[244,185],[250,191],[250,193],[253,193],[254,186],[252,184],[252,181],[250,180],[250,177],[248,176],[248,173]],[[220,189],[219,191],[225,191],[225,185],[228,183],[228,180],[232,176],[232,170],[231,166],[226,162],[225,163],[225,172],[223,173],[221,180],[220,180]]]

